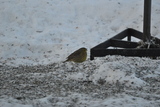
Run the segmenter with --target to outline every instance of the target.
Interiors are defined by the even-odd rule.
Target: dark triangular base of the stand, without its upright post
[[[127,41],[122,39],[127,37]],[[122,56],[132,56],[132,57],[157,57],[160,56],[160,48],[137,48],[140,42],[132,42],[131,37],[143,40],[143,33],[128,28],[116,36],[110,38],[109,40],[93,47],[90,52],[90,59],[93,60],[94,57],[104,57],[106,55],[122,55]],[[151,38],[154,38],[151,36]],[[156,43],[160,43],[158,38],[154,38]],[[115,47],[120,49],[107,49],[109,47]]]

